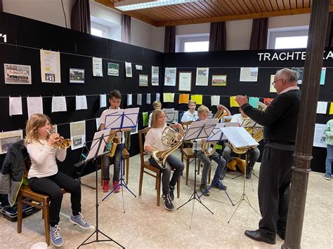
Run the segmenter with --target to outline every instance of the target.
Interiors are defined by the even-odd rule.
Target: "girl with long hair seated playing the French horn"
[[[176,126],[180,126],[180,124],[176,124]],[[162,143],[162,133],[166,127],[166,116],[163,110],[156,109],[152,113],[151,127],[145,136],[145,152],[151,154],[153,148],[159,152],[170,149]],[[149,162],[152,166],[159,168],[158,163],[152,157],[150,157]],[[174,174],[170,180],[171,168],[174,169]],[[170,154],[166,158],[166,168],[162,169],[162,200],[164,201],[164,207],[169,211],[174,210],[174,204],[172,203],[174,201],[174,189],[183,170],[184,164],[176,156]]]

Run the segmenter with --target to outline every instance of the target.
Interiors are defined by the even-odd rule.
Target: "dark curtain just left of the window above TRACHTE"
[[[254,19],[250,40],[250,50],[266,49],[268,34],[268,18]]]

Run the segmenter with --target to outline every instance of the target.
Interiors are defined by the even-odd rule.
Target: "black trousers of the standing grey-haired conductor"
[[[270,238],[275,238],[277,230],[285,233],[293,154],[293,151],[274,149],[267,145],[263,149],[258,186],[262,216],[259,229]]]

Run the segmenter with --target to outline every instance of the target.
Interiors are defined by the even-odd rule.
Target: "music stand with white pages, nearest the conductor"
[[[247,130],[244,129],[244,127],[227,127],[227,128],[221,128],[222,132],[226,137],[228,138],[229,142],[231,142],[236,148],[240,147],[247,147],[247,154],[245,160],[248,161],[249,157],[249,147],[259,145],[256,140],[250,135]],[[245,170],[247,170],[245,166]],[[249,198],[247,198],[247,194],[245,194],[245,182],[246,182],[246,174],[244,174],[244,182],[243,182],[243,192],[242,196],[240,197],[240,201],[237,201],[235,205],[237,205],[235,211],[233,212],[233,215],[235,215],[237,209],[240,207],[240,204],[242,204],[242,201],[245,201],[249,206],[257,213],[259,212],[254,209],[252,204],[249,201]],[[233,218],[233,215],[231,215],[230,219],[228,220],[228,223]],[[259,214],[260,215],[260,214]]]

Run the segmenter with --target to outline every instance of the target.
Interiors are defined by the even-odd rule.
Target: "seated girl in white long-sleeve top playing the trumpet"
[[[50,196],[49,221],[51,242],[55,246],[63,245],[58,226],[61,202],[63,201],[62,188],[71,193],[72,216],[70,222],[83,229],[90,225],[81,215],[81,185],[69,175],[58,171],[55,158],[64,161],[66,149],[55,149],[54,144],[60,137],[58,133],[49,135],[52,130],[50,118],[44,114],[34,114],[27,121],[25,146],[30,155],[31,167],[28,173],[30,188],[40,194]]]

